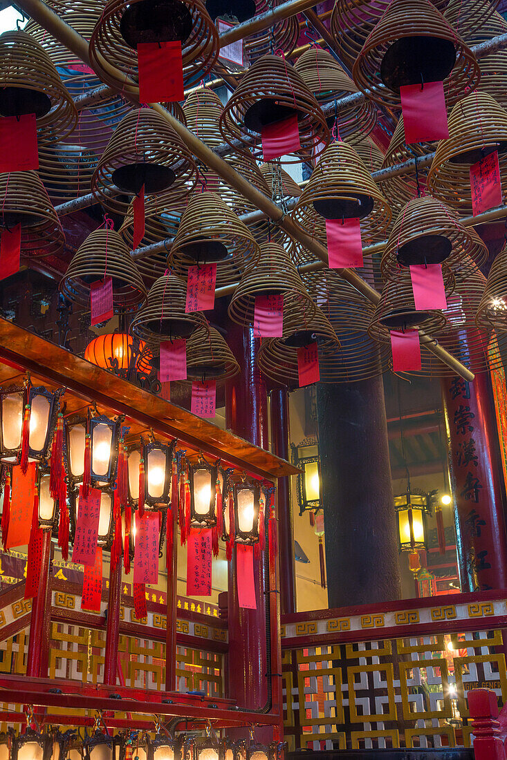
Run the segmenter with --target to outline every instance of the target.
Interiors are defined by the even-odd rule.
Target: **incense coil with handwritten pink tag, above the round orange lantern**
[[[146,299],[141,275],[129,249],[114,230],[101,227],[88,235],[60,282],[60,292],[85,309],[91,305],[91,285],[112,278],[115,311],[131,312]]]

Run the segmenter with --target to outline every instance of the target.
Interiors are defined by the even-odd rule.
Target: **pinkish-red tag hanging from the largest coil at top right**
[[[425,82],[400,87],[405,142],[431,142],[449,136],[444,83]]]

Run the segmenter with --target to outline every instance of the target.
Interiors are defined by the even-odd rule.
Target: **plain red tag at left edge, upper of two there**
[[[0,172],[27,172],[38,168],[35,114],[0,118]]]

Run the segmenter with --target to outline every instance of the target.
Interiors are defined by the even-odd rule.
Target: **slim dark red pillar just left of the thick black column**
[[[289,459],[289,391],[271,391],[271,436],[273,454]],[[289,476],[278,479],[278,520],[282,540],[279,542],[280,606],[282,615],[295,613],[294,530],[289,497]]]

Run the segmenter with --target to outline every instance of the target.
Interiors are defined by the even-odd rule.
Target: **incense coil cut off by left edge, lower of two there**
[[[62,224],[37,172],[0,174],[0,227],[12,230],[17,224],[21,224],[22,255],[34,258],[62,252]]]

